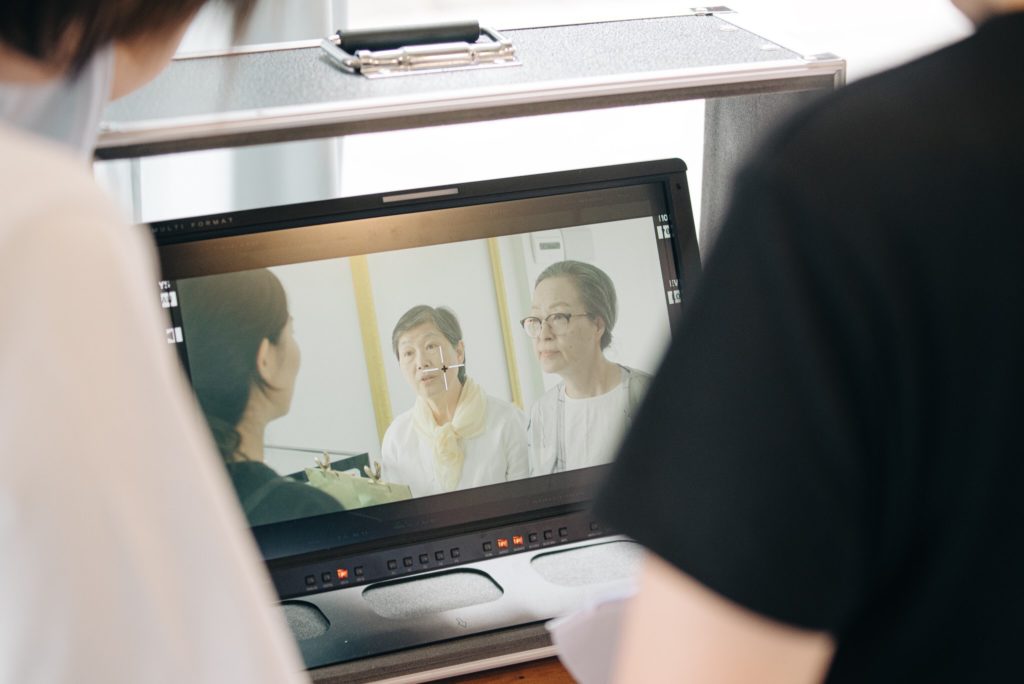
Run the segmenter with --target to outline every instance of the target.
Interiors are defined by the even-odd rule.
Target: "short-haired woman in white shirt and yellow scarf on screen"
[[[384,479],[425,497],[526,477],[525,416],[467,377],[451,309],[414,306],[395,324],[391,346],[416,403],[384,433]]]

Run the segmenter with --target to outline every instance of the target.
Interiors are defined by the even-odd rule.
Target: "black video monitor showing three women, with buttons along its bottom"
[[[587,506],[699,271],[685,170],[152,226],[167,340],[283,598],[409,571],[318,559]]]

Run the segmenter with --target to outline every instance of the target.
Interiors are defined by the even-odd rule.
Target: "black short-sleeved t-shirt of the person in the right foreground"
[[[1024,13],[991,20],[772,137],[599,498],[835,635],[829,682],[1020,671],[1022,47]]]

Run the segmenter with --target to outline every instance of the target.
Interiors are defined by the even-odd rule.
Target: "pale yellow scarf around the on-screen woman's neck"
[[[466,378],[462,386],[452,422],[444,425],[434,422],[434,414],[426,399],[416,397],[413,425],[433,445],[434,475],[445,491],[455,489],[462,478],[462,464],[466,459],[463,440],[483,432],[486,419],[487,397],[471,378]]]

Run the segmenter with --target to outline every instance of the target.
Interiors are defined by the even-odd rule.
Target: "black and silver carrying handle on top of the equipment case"
[[[444,42],[431,42],[432,37],[440,37]],[[451,37],[465,40],[445,40]],[[384,49],[370,49],[380,46]],[[510,40],[476,23],[339,31],[321,41],[321,48],[342,71],[371,79],[522,63]]]

